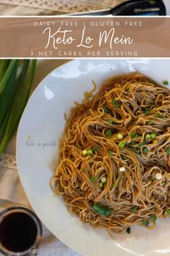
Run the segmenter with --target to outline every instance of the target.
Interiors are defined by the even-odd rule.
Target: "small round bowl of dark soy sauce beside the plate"
[[[39,244],[42,228],[33,212],[10,208],[0,218],[0,251],[4,255],[25,255],[23,252]]]

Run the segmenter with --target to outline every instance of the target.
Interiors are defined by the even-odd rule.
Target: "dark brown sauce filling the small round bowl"
[[[23,212],[7,215],[0,223],[0,242],[11,252],[24,252],[34,243],[38,229],[33,218]]]

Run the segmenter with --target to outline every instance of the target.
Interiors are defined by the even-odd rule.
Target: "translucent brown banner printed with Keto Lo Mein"
[[[0,17],[0,58],[170,57],[170,17]]]

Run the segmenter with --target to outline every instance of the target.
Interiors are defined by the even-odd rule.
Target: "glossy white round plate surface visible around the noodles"
[[[49,230],[82,255],[170,255],[169,222],[159,220],[154,231],[135,226],[131,234],[113,240],[106,231],[93,229],[69,215],[64,201],[49,187],[64,130],[64,112],[69,115],[74,101],[82,101],[83,93],[93,87],[92,80],[101,86],[111,75],[136,70],[158,83],[170,81],[170,59],[76,59],[40,83],[22,115],[17,134],[17,165],[27,197]],[[28,140],[35,141],[35,145],[29,146]]]

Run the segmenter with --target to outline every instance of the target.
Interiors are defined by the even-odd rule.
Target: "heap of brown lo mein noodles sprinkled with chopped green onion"
[[[170,214],[170,93],[140,73],[72,109],[51,178],[69,212],[121,233]]]

